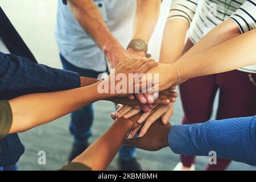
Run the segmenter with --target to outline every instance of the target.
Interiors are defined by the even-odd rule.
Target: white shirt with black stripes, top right
[[[256,0],[173,0],[168,19],[184,19],[190,27],[189,38],[196,44],[212,28],[226,19],[231,19],[241,33],[256,28]],[[256,65],[240,68],[240,71],[256,73]]]

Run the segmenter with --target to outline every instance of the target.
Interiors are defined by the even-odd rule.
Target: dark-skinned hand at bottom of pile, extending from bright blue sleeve
[[[162,125],[161,121],[154,122],[144,137],[135,139],[126,138],[123,144],[125,146],[133,146],[147,151],[158,151],[164,147],[168,147],[168,135],[171,124]]]

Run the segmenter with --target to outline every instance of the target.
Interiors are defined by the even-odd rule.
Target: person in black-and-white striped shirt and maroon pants
[[[188,50],[193,55],[234,36],[256,28],[256,1],[204,0],[197,10],[198,0],[172,1],[170,14],[164,30],[160,63],[172,63]],[[195,16],[194,16],[195,15]],[[214,27],[219,26],[216,30]],[[190,27],[187,43],[184,40]],[[214,30],[214,31],[212,31]],[[214,35],[209,39],[207,35]],[[197,44],[195,51],[194,45]],[[181,58],[191,56],[185,53]],[[240,68],[215,75],[192,78],[180,85],[184,109],[183,124],[204,122],[210,119],[213,101],[220,89],[217,119],[248,117],[256,114],[255,94],[256,67]],[[191,93],[197,93],[192,95]],[[194,170],[195,156],[181,155],[175,170]],[[207,170],[224,170],[228,159],[217,159],[217,165],[208,165]]]

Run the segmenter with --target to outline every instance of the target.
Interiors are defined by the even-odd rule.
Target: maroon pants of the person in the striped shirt
[[[191,45],[192,42],[188,44]],[[256,74],[251,74],[256,81]],[[183,124],[205,122],[210,119],[213,101],[220,89],[216,119],[247,117],[256,114],[256,86],[249,80],[249,73],[230,71],[216,75],[192,78],[180,85],[180,96],[184,109]],[[195,156],[180,157],[184,166],[195,163]],[[216,165],[207,170],[224,170],[228,159],[217,159]]]

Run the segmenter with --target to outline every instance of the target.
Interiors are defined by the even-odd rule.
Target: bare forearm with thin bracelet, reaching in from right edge
[[[255,39],[256,30],[251,30],[204,52],[177,60],[175,63],[180,73],[180,80],[256,64]]]

